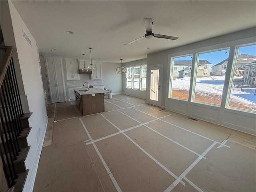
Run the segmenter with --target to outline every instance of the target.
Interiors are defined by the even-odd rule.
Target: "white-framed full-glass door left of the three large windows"
[[[148,76],[150,78],[150,84],[148,85],[148,104],[160,106],[161,105],[161,84],[162,84],[162,67],[149,67]]]

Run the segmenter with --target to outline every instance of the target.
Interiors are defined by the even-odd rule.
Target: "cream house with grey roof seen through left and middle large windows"
[[[198,77],[205,77],[210,76],[211,72],[211,63],[207,60],[199,60],[198,62],[198,68],[197,68],[197,76]],[[191,68],[192,68],[192,60],[180,60],[180,61],[174,61],[173,66],[173,77],[178,77],[179,72],[181,70],[184,70],[183,74],[184,76],[191,76]]]

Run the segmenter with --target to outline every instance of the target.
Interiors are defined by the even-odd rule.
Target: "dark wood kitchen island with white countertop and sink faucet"
[[[105,111],[104,93],[109,91],[98,88],[74,89],[76,106],[83,116]]]

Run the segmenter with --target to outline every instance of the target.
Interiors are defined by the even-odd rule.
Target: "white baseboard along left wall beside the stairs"
[[[40,155],[41,155],[43,144],[44,144],[44,137],[45,137],[46,130],[47,130],[47,125],[48,125],[48,118],[46,120],[44,134],[42,134],[39,145],[38,145],[38,150],[36,152],[36,158],[34,160],[33,167],[32,167],[32,169],[29,170],[29,172],[31,172],[30,178],[27,178],[26,182],[24,184],[24,188],[23,188],[24,192],[32,192],[33,191],[34,183],[36,180],[37,168],[38,168],[38,164],[39,164],[39,160],[40,160]]]

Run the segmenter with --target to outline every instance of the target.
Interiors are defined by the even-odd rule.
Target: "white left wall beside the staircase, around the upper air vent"
[[[4,6],[3,10],[2,6]],[[32,116],[29,118],[29,124],[32,126],[32,130],[27,138],[28,145],[31,147],[25,161],[26,168],[29,169],[29,172],[24,186],[24,191],[32,191],[48,118],[46,116],[46,106],[44,103],[36,41],[24,24],[17,10],[14,8],[12,2],[1,1],[1,19],[3,16],[4,19],[7,19],[8,14],[11,16],[12,23],[5,23],[1,20],[4,41],[6,46],[14,46],[14,57],[18,59],[21,72],[21,77],[18,76],[17,78],[18,82],[23,82],[24,86],[24,89],[22,89],[20,85],[19,88],[20,90],[24,90],[29,111],[33,112]],[[6,31],[6,29],[10,30],[10,26],[13,27],[13,31]],[[32,47],[24,40],[22,30],[26,32],[32,41]],[[14,34],[14,37],[10,36],[12,33]],[[36,134],[40,135],[38,139],[36,138]]]

